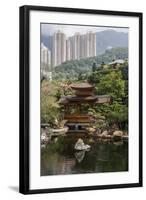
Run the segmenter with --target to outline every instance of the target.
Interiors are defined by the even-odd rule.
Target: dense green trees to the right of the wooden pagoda
[[[108,67],[103,69],[103,64],[93,72],[88,81],[95,85],[97,95],[110,95],[112,103],[101,104],[94,107],[94,112],[106,118],[108,125],[116,124],[121,129],[128,127],[128,63],[118,69]],[[90,111],[91,112],[91,111]],[[97,123],[97,126],[100,123]],[[100,126],[102,127],[102,126]]]

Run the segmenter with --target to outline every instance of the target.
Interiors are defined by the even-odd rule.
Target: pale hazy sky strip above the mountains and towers
[[[60,30],[64,32],[67,36],[72,36],[76,32],[84,34],[89,31],[99,32],[104,30],[115,30],[118,32],[128,32],[128,28],[113,28],[113,27],[92,27],[92,26],[76,26],[76,25],[57,25],[57,24],[41,24],[41,34],[42,35],[52,35],[54,32]]]

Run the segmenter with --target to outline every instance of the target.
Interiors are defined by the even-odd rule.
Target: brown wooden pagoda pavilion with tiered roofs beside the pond
[[[110,103],[108,95],[94,95],[94,86],[89,83],[71,84],[75,96],[63,96],[59,104],[64,107],[64,119],[72,131],[85,131],[89,126],[91,115],[88,114],[86,105],[93,107],[95,104]]]

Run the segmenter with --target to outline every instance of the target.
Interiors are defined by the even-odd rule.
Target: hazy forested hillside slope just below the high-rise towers
[[[79,74],[91,75],[92,72],[95,72],[96,66],[99,68],[104,63],[106,69],[108,68],[107,64],[113,59],[126,59],[127,57],[127,48],[115,48],[95,57],[66,61],[55,67],[53,78],[56,80],[77,80]]]

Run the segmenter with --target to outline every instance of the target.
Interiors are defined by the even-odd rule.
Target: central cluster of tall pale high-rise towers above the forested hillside
[[[57,31],[52,37],[52,66],[67,60],[96,56],[96,33],[75,33],[72,37]]]

